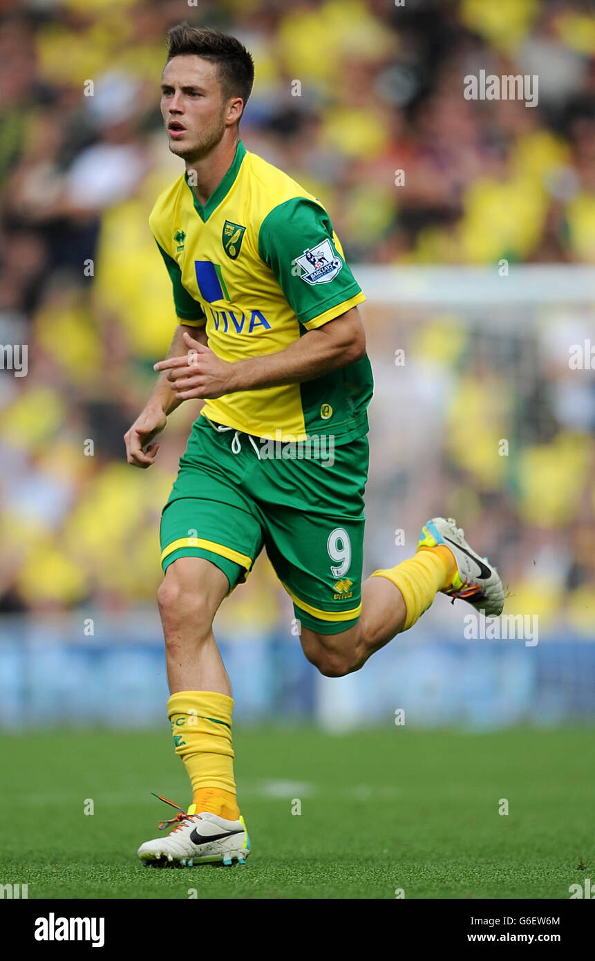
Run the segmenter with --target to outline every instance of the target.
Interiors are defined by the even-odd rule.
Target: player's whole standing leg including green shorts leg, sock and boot
[[[229,434],[199,417],[161,514],[167,714],[193,799],[187,810],[173,804],[178,814],[169,834],[140,846],[145,864],[242,863],[250,851],[236,802],[232,688],[212,633],[219,605],[262,547],[257,511],[241,490],[247,457],[234,453]]]

